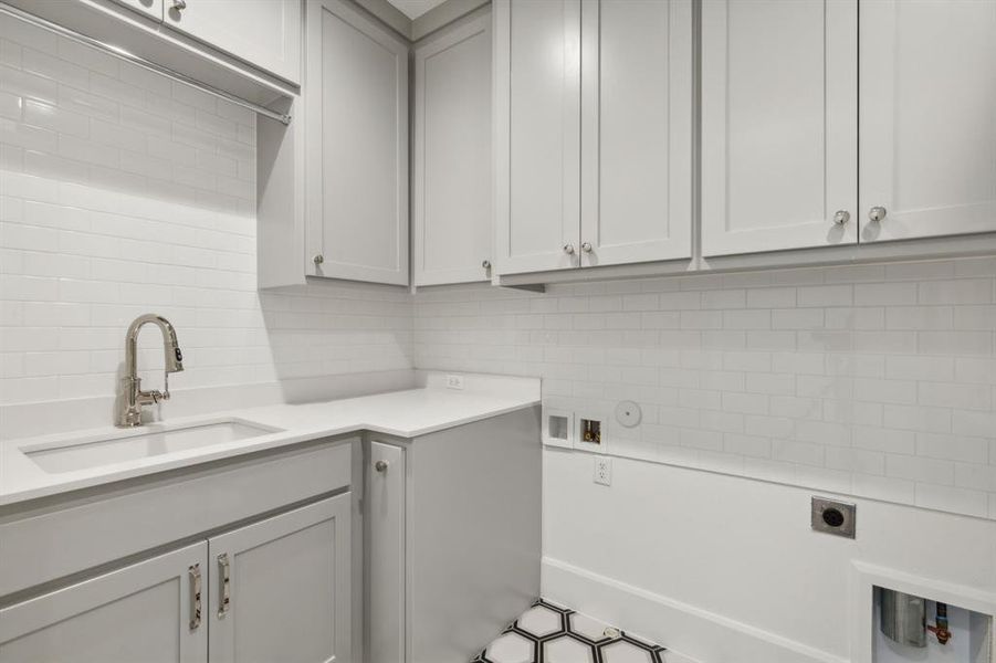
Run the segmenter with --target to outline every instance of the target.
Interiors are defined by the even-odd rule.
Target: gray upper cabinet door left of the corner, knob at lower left
[[[343,0],[307,12],[308,273],[408,285],[408,45]]]

